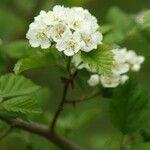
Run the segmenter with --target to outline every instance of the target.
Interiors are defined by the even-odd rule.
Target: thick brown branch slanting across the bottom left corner
[[[38,124],[35,122],[27,122],[21,119],[7,119],[6,117],[0,116],[0,119],[9,125],[13,125],[14,128],[23,129],[30,133],[34,133],[45,137],[49,141],[53,142],[63,150],[81,150],[81,148],[75,144],[70,143],[67,139],[57,135],[49,130],[48,126]]]

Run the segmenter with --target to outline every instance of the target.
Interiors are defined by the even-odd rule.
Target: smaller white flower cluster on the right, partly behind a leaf
[[[120,84],[124,84],[129,79],[127,75],[129,71],[137,72],[140,70],[141,64],[144,62],[144,57],[138,56],[133,50],[127,51],[126,48],[113,49],[112,52],[114,54],[114,66],[108,75],[97,74],[87,64],[82,63],[79,55],[74,56],[72,62],[78,69],[86,68],[93,73],[88,80],[90,86],[96,86],[101,83],[105,88],[114,88]]]

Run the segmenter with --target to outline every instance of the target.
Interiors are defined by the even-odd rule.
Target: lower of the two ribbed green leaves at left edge
[[[35,100],[29,96],[15,97],[1,103],[7,111],[21,112],[21,113],[40,113],[40,107]]]

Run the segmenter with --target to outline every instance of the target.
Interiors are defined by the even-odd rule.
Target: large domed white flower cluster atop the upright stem
[[[55,44],[59,51],[73,56],[78,51],[89,52],[102,42],[97,19],[81,7],[55,6],[53,11],[41,11],[27,32],[32,47],[45,49]]]

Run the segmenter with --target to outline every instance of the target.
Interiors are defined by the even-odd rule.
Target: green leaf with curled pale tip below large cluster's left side
[[[54,63],[55,56],[53,53],[37,53],[19,60],[14,67],[14,72],[15,74],[19,74],[29,69],[46,67]]]

